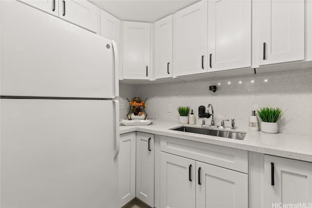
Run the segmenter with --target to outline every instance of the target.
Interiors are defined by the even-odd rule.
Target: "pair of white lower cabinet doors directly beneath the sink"
[[[248,174],[160,152],[161,208],[247,208]]]

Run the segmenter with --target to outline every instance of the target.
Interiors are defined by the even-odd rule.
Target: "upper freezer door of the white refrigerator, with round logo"
[[[0,3],[0,95],[116,96],[111,40],[19,1]]]

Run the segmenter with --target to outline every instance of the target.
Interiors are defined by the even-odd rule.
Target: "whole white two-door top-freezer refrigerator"
[[[118,207],[116,43],[0,1],[0,207]]]

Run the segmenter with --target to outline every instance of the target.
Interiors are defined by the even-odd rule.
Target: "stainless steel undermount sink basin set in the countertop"
[[[211,135],[211,136],[219,136],[219,137],[225,137],[229,139],[239,139],[239,140],[243,140],[246,136],[246,132],[230,132],[226,130],[197,128],[197,127],[188,127],[188,126],[173,128],[171,130],[180,131],[180,132],[200,133],[200,134],[206,134],[206,135]]]

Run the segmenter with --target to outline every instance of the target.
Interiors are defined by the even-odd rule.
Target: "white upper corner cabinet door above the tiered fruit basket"
[[[150,77],[150,23],[123,22],[123,78]]]

